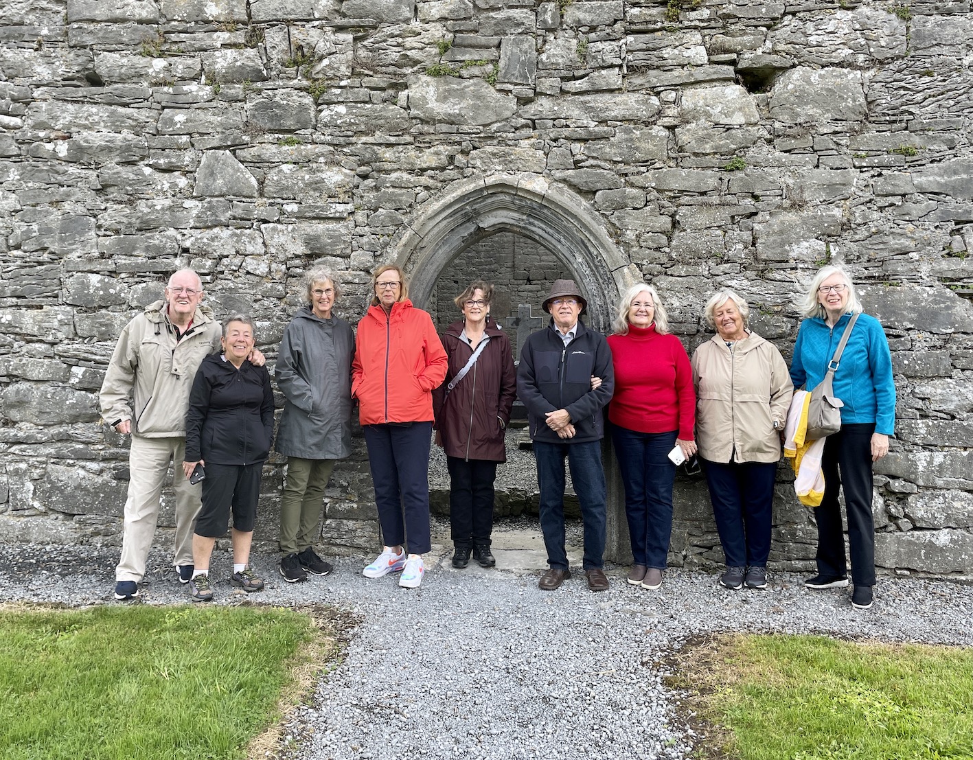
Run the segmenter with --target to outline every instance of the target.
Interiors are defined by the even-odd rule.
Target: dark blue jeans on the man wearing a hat
[[[549,444],[534,441],[537,483],[540,486],[541,531],[548,564],[566,570],[564,551],[564,457],[571,468],[571,482],[581,502],[585,524],[586,570],[601,567],[605,552],[605,473],[601,467],[601,442]]]

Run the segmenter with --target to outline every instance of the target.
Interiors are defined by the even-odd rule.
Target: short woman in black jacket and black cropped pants
[[[209,601],[209,559],[216,537],[226,532],[231,510],[234,527],[234,572],[230,583],[245,592],[260,591],[264,582],[248,566],[257,518],[260,476],[273,438],[273,393],[266,367],[254,367],[253,322],[234,314],[223,325],[223,353],[199,365],[186,416],[186,458],[191,478],[205,467],[202,509],[193,533],[194,601]]]

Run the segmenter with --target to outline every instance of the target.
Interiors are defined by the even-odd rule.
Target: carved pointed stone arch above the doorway
[[[505,231],[535,240],[558,257],[588,299],[586,321],[595,330],[607,331],[619,293],[641,280],[589,203],[536,174],[452,184],[416,210],[392,241],[386,260],[409,274],[410,297],[425,307],[440,273],[456,256],[477,240]]]

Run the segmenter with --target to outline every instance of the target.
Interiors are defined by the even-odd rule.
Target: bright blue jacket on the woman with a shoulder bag
[[[811,390],[824,380],[828,362],[842,340],[851,314],[843,314],[834,329],[824,319],[812,316],[801,322],[794,344],[791,380],[794,387]],[[842,407],[842,422],[875,422],[875,432],[895,433],[895,382],[892,357],[882,323],[874,316],[861,314],[854,323],[845,352],[835,373],[835,395]]]

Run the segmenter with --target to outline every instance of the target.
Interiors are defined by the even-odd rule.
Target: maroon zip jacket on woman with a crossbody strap
[[[462,319],[453,322],[442,335],[450,364],[446,380],[433,391],[435,426],[442,434],[447,456],[505,462],[504,428],[517,396],[510,339],[487,319],[485,334],[489,341],[466,377],[447,394],[450,382],[473,355],[473,348],[460,338],[464,324]]]

